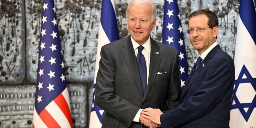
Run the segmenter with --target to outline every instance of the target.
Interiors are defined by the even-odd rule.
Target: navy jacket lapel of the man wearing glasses
[[[203,70],[203,68],[205,66],[207,66],[208,62],[210,61],[210,59],[213,57],[213,55],[216,53],[216,51],[218,51],[219,49],[221,49],[221,47],[219,45],[215,46],[208,54],[207,56],[204,58],[204,60],[200,63],[198,69],[196,72],[194,72],[194,74],[191,76],[191,73],[188,76],[187,82],[185,84],[185,88],[182,91],[182,95],[181,95],[181,100],[183,98],[183,96],[185,95],[185,93],[187,92],[187,90],[189,89],[189,87],[191,86],[191,84],[193,83],[193,81],[197,78],[197,76],[201,73],[201,71]],[[203,66],[204,65],[204,66]],[[192,68],[194,70],[195,66]],[[193,71],[192,70],[192,71]],[[190,79],[189,79],[190,78]],[[181,101],[180,100],[180,101]]]

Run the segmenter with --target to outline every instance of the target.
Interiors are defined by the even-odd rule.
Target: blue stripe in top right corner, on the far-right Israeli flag
[[[252,0],[242,1],[240,2],[239,15],[256,45],[256,12],[254,3]]]

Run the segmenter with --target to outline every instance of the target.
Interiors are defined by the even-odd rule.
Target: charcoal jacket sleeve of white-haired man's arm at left
[[[96,104],[127,127],[130,127],[133,118],[140,108],[115,95],[115,87],[118,86],[115,85],[116,63],[114,63],[104,46],[101,48],[100,55],[101,59],[96,79]]]

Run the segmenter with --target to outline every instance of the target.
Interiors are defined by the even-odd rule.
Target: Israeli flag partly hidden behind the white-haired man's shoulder
[[[93,103],[91,105],[89,128],[101,128],[101,120],[104,117],[104,110],[95,103],[96,76],[99,69],[101,47],[119,39],[114,0],[103,0],[99,25],[99,38],[97,46],[96,66],[94,75]]]

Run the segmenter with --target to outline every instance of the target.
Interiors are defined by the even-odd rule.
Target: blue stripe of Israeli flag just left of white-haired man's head
[[[118,40],[119,34],[116,23],[116,15],[110,0],[102,1],[100,21],[102,28],[105,31],[110,42]]]

